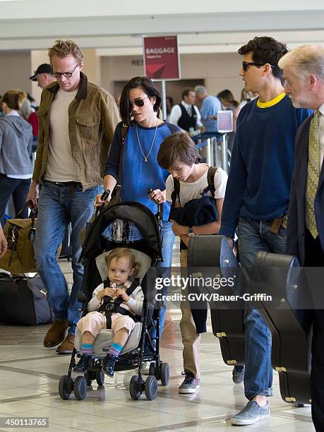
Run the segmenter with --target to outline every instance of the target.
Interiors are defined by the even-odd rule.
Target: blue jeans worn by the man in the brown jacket
[[[34,244],[36,267],[47,288],[47,298],[54,318],[68,320],[70,335],[76,332],[76,323],[81,313],[81,304],[78,302],[83,279],[83,265],[78,263],[82,246],[80,232],[92,216],[93,202],[100,191],[101,186],[85,191],[77,186],[71,195],[71,186],[59,186],[46,181],[40,191]],[[71,295],[68,294],[68,284],[56,260],[56,250],[70,222],[73,270]]]

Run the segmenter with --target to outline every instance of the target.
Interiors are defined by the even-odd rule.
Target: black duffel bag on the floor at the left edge
[[[39,275],[0,273],[0,323],[37,325],[52,322],[52,309]]]

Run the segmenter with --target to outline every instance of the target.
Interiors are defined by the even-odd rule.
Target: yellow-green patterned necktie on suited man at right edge
[[[320,179],[320,156],[318,145],[318,117],[317,111],[311,120],[308,138],[308,167],[306,184],[306,226],[314,239],[318,236],[316,218],[314,213],[314,201]]]

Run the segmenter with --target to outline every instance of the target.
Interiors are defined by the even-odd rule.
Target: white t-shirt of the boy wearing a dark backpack
[[[207,173],[208,170],[204,172],[204,174],[200,177],[200,179],[196,181],[192,181],[191,183],[180,181],[179,196],[180,196],[181,207],[184,207],[184,205],[188,203],[188,201],[190,200],[201,198],[200,193],[203,192],[203,190],[208,187]],[[217,168],[214,176],[214,184],[215,184],[214,198],[215,199],[224,198],[226,184],[227,184],[227,173],[224,171],[224,169]],[[172,203],[171,194],[174,191],[174,181],[171,175],[167,178],[166,189],[167,189],[167,201],[170,201]],[[211,196],[210,192],[208,192],[207,196]],[[178,199],[176,200],[178,201]]]

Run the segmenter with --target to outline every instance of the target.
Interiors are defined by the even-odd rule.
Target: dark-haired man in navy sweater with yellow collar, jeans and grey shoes
[[[255,37],[239,49],[239,75],[246,90],[259,97],[241,109],[237,121],[231,169],[224,199],[220,234],[232,244],[238,228],[239,258],[248,270],[256,253],[284,253],[286,222],[296,131],[311,112],[296,109],[282,87],[278,66],[287,47],[272,37]],[[232,424],[246,425],[269,416],[272,395],[271,334],[257,309],[246,308],[245,374],[236,368],[235,382],[244,375],[246,407]]]

